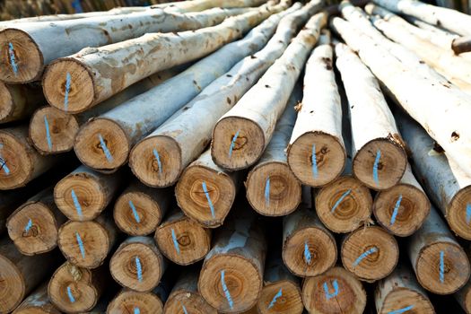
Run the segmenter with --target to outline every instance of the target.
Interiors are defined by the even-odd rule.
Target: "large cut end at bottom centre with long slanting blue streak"
[[[256,305],[262,284],[257,267],[249,260],[216,256],[205,261],[198,291],[214,309],[238,313]]]

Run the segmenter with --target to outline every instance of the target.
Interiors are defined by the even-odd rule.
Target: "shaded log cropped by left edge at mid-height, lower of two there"
[[[0,130],[0,189],[26,186],[32,179],[53,168],[57,158],[41,156],[28,140],[28,126]]]

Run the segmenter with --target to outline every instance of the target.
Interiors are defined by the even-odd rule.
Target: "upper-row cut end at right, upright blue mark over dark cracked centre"
[[[388,139],[364,144],[353,158],[353,174],[369,188],[383,190],[396,185],[407,166],[402,147]]]

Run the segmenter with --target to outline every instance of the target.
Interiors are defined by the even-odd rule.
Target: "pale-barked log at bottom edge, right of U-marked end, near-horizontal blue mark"
[[[435,314],[423,287],[406,264],[400,264],[391,275],[376,286],[374,301],[379,314],[397,313],[414,309],[417,313]]]

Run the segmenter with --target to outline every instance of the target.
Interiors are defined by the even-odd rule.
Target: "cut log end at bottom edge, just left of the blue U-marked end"
[[[301,314],[304,305],[299,286],[288,280],[267,284],[257,301],[257,310],[261,314]]]

